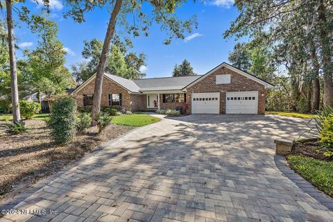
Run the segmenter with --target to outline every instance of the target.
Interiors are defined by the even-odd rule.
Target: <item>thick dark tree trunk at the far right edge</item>
[[[333,107],[333,75],[331,65],[330,36],[327,33],[327,18],[323,0],[318,7],[318,20],[320,27],[320,42],[322,52],[323,80],[324,80],[324,105]]]

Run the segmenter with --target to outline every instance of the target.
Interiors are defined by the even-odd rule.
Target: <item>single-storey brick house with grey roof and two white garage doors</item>
[[[79,107],[92,105],[94,79],[95,75],[72,93]],[[266,89],[273,87],[226,62],[201,76],[128,80],[105,74],[101,106],[136,112],[188,103],[189,114],[264,114]]]

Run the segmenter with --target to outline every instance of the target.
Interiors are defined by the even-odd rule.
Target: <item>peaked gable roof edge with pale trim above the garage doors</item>
[[[227,67],[228,69],[231,69],[232,71],[237,72],[237,74],[241,74],[242,76],[245,76],[246,78],[250,78],[251,80],[254,80],[257,83],[260,83],[262,85],[264,85],[265,89],[266,88],[273,88],[275,87],[275,85],[272,85],[271,83],[268,83],[265,80],[262,80],[261,78],[258,78],[257,76],[253,76],[252,74],[249,74],[246,71],[243,71],[241,69],[238,69],[237,67],[234,67],[233,65],[228,64],[227,62],[222,62],[220,65],[218,65],[217,67],[215,67],[214,69],[211,69],[210,71],[208,71],[205,75],[201,76],[200,78],[198,78],[197,80],[194,80],[192,83],[189,83],[189,85],[185,86],[182,89],[185,89],[187,87],[191,87],[192,85],[198,83],[200,80],[203,80],[204,78],[206,78],[207,76],[210,76],[210,74],[214,73],[214,71],[221,69],[222,67]]]

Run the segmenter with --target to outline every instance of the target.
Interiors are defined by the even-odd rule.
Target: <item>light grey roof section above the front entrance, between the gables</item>
[[[129,80],[112,74],[105,74],[108,78],[118,83],[130,92],[160,91],[160,90],[180,90],[189,83],[200,78],[200,76],[181,76],[164,78],[142,78]]]

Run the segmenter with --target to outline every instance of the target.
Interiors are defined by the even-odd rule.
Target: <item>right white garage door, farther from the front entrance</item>
[[[226,114],[257,114],[258,92],[227,92],[225,96]]]

